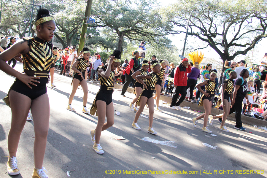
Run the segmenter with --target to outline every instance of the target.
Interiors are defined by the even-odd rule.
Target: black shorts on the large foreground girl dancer
[[[16,79],[13,85],[11,86],[10,90],[14,90],[18,93],[28,96],[29,98],[31,98],[31,100],[38,98],[39,96],[46,93],[46,83],[48,79],[40,78],[40,79],[34,79],[34,80],[37,80],[40,83],[33,82],[37,86],[29,84],[31,86],[31,88],[29,88],[25,83]]]

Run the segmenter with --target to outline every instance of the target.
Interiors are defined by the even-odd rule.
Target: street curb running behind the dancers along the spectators
[[[90,82],[92,83],[92,82]],[[93,81],[94,84],[97,84],[99,82],[97,81]],[[114,84],[114,88],[115,89],[122,89],[123,88],[123,85],[119,85],[119,84]],[[134,88],[132,87],[128,87],[127,91],[129,93],[133,93],[134,92]],[[171,97],[169,96],[163,96],[163,95],[160,95],[160,100],[162,101],[165,101],[166,103],[171,103]],[[204,107],[201,106],[201,107],[198,107],[198,105],[196,103],[191,103],[191,102],[188,102],[188,101],[183,101],[181,104],[180,104],[181,107],[190,107],[190,109],[193,109],[193,110],[197,110],[197,111],[201,111],[201,112],[205,112],[204,110]],[[211,115],[218,115],[218,114],[222,114],[223,113],[223,110],[221,109],[216,109],[216,108],[212,108],[212,112],[211,112]],[[231,120],[231,121],[234,121],[236,122],[236,118],[235,118],[235,114],[232,113],[230,114],[227,119]],[[266,120],[260,120],[260,119],[256,119],[254,117],[248,117],[248,116],[244,116],[244,115],[241,115],[241,120],[242,120],[242,123],[244,124],[248,124],[248,125],[257,125],[257,126],[266,126],[267,127],[267,121]]]

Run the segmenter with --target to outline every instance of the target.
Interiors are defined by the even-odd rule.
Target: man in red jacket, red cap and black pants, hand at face
[[[175,92],[173,94],[173,98],[171,100],[171,109],[181,110],[179,105],[184,101],[186,96],[186,86],[187,86],[187,73],[191,72],[191,67],[188,63],[188,59],[184,58],[182,63],[177,67],[176,72],[174,74],[174,87],[176,87]],[[178,99],[179,94],[181,96]],[[176,102],[177,101],[177,102]]]

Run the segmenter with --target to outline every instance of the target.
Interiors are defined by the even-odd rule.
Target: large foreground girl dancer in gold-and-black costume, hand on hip
[[[49,127],[49,99],[46,93],[46,84],[49,82],[50,66],[53,62],[53,45],[50,43],[55,32],[55,21],[47,9],[39,9],[36,16],[35,37],[23,38],[20,43],[15,43],[8,50],[0,54],[0,69],[16,77],[4,101],[11,107],[12,119],[8,133],[9,158],[7,173],[20,174],[16,158],[20,134],[26,123],[29,109],[34,118],[34,172],[32,178],[48,177],[43,167],[47,134]],[[6,61],[21,54],[23,60],[22,74]]]

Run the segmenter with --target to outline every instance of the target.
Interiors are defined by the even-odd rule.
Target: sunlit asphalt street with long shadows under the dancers
[[[22,64],[17,63],[15,69],[22,71]],[[193,127],[191,118],[200,113],[189,109],[172,110],[169,105],[160,104],[163,112],[155,111],[153,121],[153,128],[158,134],[152,135],[147,133],[148,118],[139,118],[141,130],[131,127],[135,112],[131,112],[129,103],[134,94],[127,92],[126,97],[122,97],[119,90],[114,91],[112,98],[114,110],[120,115],[115,115],[115,124],[102,132],[100,144],[104,154],[98,155],[90,141],[90,130],[96,127],[97,117],[82,113],[81,87],[72,102],[76,111],[66,109],[72,78],[57,73],[54,79],[56,87],[51,88],[50,83],[47,85],[50,126],[43,166],[50,178],[68,177],[67,171],[73,178],[267,177],[266,131],[249,125],[244,125],[246,131],[239,131],[234,129],[235,123],[227,120],[225,126],[230,132],[226,133],[219,130],[220,124],[216,120],[213,126],[208,126],[217,135],[212,136],[201,131],[203,120],[198,121],[196,128]],[[20,137],[17,159],[21,174],[7,174],[11,109],[2,98],[15,79],[2,71],[0,76],[0,178],[30,178],[34,167],[34,121],[26,122]],[[99,87],[88,82],[87,107],[91,106]],[[142,114],[148,117],[148,109],[145,108]],[[117,136],[123,136],[125,140],[115,140],[113,137]],[[141,140],[144,137],[173,141],[177,147]],[[217,146],[217,149],[202,143]],[[193,171],[190,172],[192,174],[189,171]]]

